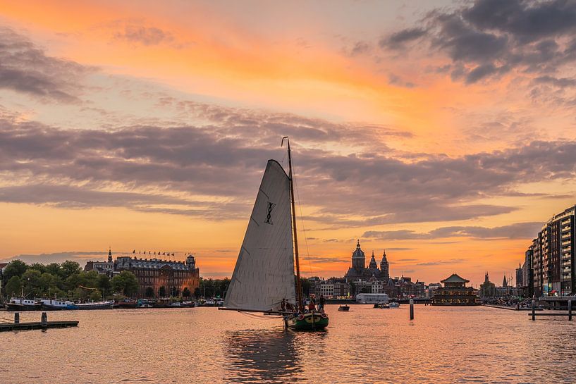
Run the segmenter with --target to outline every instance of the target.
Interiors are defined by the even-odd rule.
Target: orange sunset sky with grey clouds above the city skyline
[[[230,275],[284,135],[306,275],[500,283],[576,203],[574,1],[0,3],[0,259]]]

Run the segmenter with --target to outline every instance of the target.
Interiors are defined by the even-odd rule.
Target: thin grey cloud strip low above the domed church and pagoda
[[[543,223],[515,223],[501,227],[451,226],[417,233],[413,230],[368,231],[362,237],[379,240],[431,240],[446,237],[473,237],[476,239],[529,239],[537,234]]]

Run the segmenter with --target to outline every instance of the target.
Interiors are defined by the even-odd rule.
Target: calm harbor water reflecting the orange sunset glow
[[[0,383],[576,382],[566,318],[417,305],[409,321],[408,305],[337,308],[322,333],[215,308],[49,312],[80,325],[0,333]]]

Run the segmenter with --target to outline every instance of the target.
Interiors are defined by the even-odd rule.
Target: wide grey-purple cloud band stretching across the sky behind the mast
[[[0,200],[66,208],[126,206],[220,220],[246,217],[267,159],[286,166],[279,138],[294,138],[307,220],[329,228],[460,221],[510,213],[478,204],[525,182],[572,179],[576,142],[529,145],[458,158],[379,154],[387,128],[358,128],[290,114],[164,101],[206,125],[61,130],[0,113],[0,172],[18,185]],[[355,135],[354,132],[361,133]],[[327,142],[357,149],[339,154]],[[204,196],[204,197],[202,197]],[[360,198],[359,198],[360,196]],[[413,233],[397,233],[413,237]]]

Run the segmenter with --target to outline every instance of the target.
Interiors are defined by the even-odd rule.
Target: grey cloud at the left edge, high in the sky
[[[28,39],[0,27],[0,88],[46,102],[80,102],[80,80],[94,70],[47,56]]]

